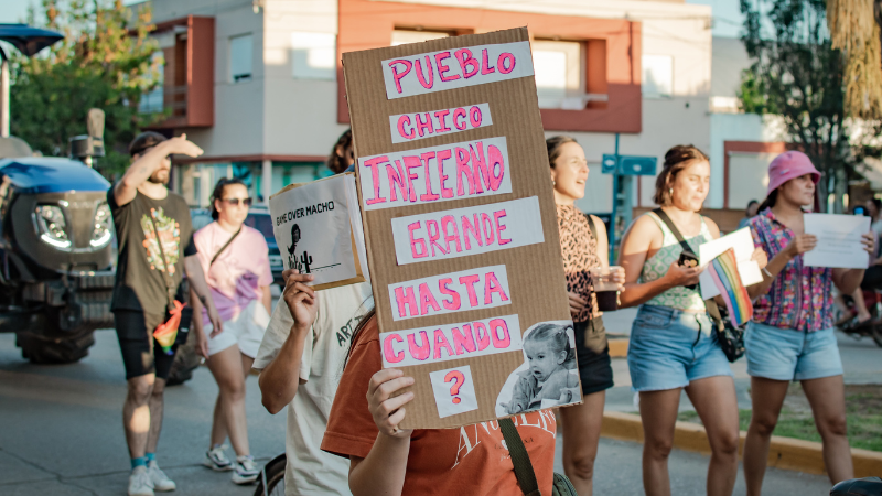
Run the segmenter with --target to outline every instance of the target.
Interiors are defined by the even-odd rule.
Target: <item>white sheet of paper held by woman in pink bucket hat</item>
[[[818,237],[815,249],[803,255],[807,267],[865,269],[870,265],[870,254],[861,244],[861,236],[870,231],[870,217],[805,214],[803,222],[806,234]]]

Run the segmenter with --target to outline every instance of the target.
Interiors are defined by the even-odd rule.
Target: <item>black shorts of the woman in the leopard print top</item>
[[[579,378],[582,380],[582,395],[604,391],[613,387],[613,367],[610,360],[610,344],[606,343],[606,327],[602,317],[577,322],[576,358],[579,363]]]

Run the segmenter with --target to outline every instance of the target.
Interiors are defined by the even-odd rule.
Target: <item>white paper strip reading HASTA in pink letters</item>
[[[508,305],[509,294],[505,266],[476,267],[389,284],[396,321]]]

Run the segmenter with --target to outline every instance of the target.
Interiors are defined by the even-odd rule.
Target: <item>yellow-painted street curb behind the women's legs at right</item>
[[[677,422],[674,433],[674,448],[710,454],[710,444],[704,428],[697,423]],[[603,428],[601,435],[622,441],[643,442],[643,424],[639,416],[607,411],[603,413]],[[746,432],[741,431],[739,441],[739,457],[744,450]],[[854,463],[854,477],[871,477],[882,475],[882,453],[851,449],[851,460]],[[772,436],[768,449],[768,466],[788,471],[804,472],[807,474],[822,475],[824,454],[821,444],[792,438]]]

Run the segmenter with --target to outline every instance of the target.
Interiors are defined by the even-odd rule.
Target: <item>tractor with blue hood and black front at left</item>
[[[34,363],[76,362],[112,327],[115,235],[107,190],[89,166],[104,155],[104,114],[71,140],[72,158],[33,157],[0,138],[0,332]]]

